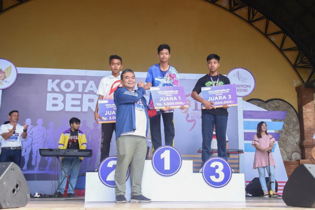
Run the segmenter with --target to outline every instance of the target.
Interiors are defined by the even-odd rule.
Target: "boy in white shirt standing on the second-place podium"
[[[120,86],[120,70],[123,68],[123,60],[118,55],[110,55],[110,70],[111,74],[102,78],[99,83],[96,94],[98,100],[100,99],[113,99],[114,92]],[[98,100],[95,107],[94,118],[97,123],[102,117],[98,114]],[[105,158],[110,156],[110,141],[112,133],[116,129],[116,123],[102,123],[102,141],[101,141],[101,158],[102,162]]]

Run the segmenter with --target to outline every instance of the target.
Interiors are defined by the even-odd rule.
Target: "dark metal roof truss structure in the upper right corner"
[[[315,0],[205,0],[242,18],[278,48],[302,83],[315,87]]]

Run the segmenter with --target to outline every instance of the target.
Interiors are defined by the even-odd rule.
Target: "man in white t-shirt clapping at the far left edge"
[[[2,137],[0,162],[14,162],[20,165],[22,155],[22,141],[21,137],[27,137],[27,128],[17,124],[19,119],[18,111],[14,110],[9,113],[10,123],[3,124],[0,127],[0,134]]]

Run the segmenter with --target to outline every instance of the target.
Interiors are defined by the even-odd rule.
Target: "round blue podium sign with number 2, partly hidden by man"
[[[108,187],[115,187],[115,170],[117,164],[117,156],[110,156],[104,159],[98,167],[98,177],[103,184]],[[126,180],[129,178],[129,168],[127,170]]]

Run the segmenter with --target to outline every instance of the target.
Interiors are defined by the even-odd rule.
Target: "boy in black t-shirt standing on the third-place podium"
[[[191,97],[196,101],[199,101],[204,104],[205,109],[202,109],[201,120],[202,120],[202,136],[203,136],[203,145],[201,160],[202,165],[205,161],[211,157],[211,141],[213,135],[213,127],[216,125],[216,135],[218,141],[218,156],[227,160],[226,152],[226,127],[227,127],[227,117],[228,112],[227,104],[223,104],[221,108],[215,108],[214,103],[207,101],[204,98],[200,97],[202,87],[216,86],[230,84],[229,78],[219,74],[218,68],[220,66],[220,57],[216,54],[210,54],[207,57],[207,66],[209,69],[209,74],[206,74],[204,77],[200,78],[194,89],[192,90]]]

